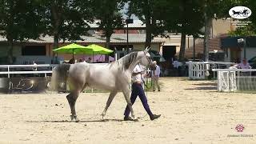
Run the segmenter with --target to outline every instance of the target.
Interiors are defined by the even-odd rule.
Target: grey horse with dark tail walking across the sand
[[[79,62],[75,64],[61,64],[54,68],[51,86],[54,90],[58,89],[60,83],[67,80],[72,89],[70,94],[66,96],[69,104],[71,120],[78,121],[75,111],[75,102],[78,95],[86,86],[93,87],[98,90],[109,90],[110,96],[106,102],[106,107],[102,112],[102,118],[106,115],[106,110],[110,106],[114,96],[121,91],[126,98],[126,102],[130,108],[131,117],[134,117],[134,110],[130,102],[130,78],[134,67],[140,63],[142,66],[149,66],[151,70],[155,70],[156,66],[148,53],[149,48],[143,51],[133,52],[118,59],[118,61],[106,64],[94,64]]]

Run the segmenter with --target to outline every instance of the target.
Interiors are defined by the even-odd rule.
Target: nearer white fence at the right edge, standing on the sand
[[[256,69],[213,69],[218,72],[218,91],[256,92]]]

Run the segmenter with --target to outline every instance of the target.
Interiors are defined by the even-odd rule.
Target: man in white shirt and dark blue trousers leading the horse
[[[142,101],[142,105],[144,106],[144,109],[146,110],[147,114],[149,114],[150,119],[154,120],[156,118],[159,118],[161,116],[161,114],[152,114],[151,110],[150,110],[150,106],[147,103],[147,99],[146,99],[146,95],[144,93],[143,87],[142,87],[142,78],[146,76],[146,74],[144,74],[145,70],[142,70],[142,66],[140,64],[138,64],[137,66],[135,66],[133,73],[132,73],[132,92],[131,92],[131,96],[130,96],[130,101],[132,104],[134,104],[137,96],[141,99]],[[130,109],[128,107],[128,105],[126,106],[126,110],[125,110],[125,121],[134,121],[134,119],[130,118],[129,116],[130,114]]]

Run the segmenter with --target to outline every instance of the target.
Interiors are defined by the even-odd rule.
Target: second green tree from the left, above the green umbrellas
[[[60,39],[78,40],[87,34],[88,22],[93,18],[89,0],[44,0],[41,5],[44,34],[54,36],[54,48]]]

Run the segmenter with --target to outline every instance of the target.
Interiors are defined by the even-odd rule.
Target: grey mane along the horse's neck
[[[129,66],[132,62],[134,62],[134,59],[137,58],[138,52],[132,52],[130,54],[127,54],[126,56],[118,59],[119,66],[123,66],[124,70],[129,69]]]

